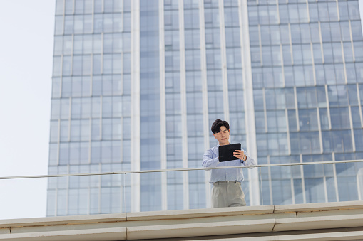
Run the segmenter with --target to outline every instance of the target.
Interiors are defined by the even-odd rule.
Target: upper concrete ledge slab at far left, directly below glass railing
[[[125,213],[79,215],[79,216],[58,216],[48,218],[21,218],[0,220],[1,227],[27,227],[43,225],[66,225],[78,223],[103,223],[103,222],[124,222]]]

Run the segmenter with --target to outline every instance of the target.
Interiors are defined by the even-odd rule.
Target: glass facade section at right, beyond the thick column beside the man
[[[248,1],[248,14],[259,164],[362,159],[358,1]],[[264,168],[262,203],[358,200],[359,168]]]

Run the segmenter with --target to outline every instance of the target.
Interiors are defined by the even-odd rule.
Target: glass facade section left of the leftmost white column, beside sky
[[[56,1],[49,174],[131,169],[130,63],[130,1]],[[47,215],[123,212],[121,183],[50,178]]]

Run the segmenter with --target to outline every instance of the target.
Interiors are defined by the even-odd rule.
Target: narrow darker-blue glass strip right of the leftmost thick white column
[[[160,169],[160,73],[158,1],[140,1],[140,166]],[[140,180],[141,211],[161,209],[160,173]]]

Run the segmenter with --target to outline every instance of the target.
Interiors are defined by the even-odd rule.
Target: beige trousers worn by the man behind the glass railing
[[[212,207],[237,207],[245,206],[245,193],[238,181],[217,181],[213,183]]]

